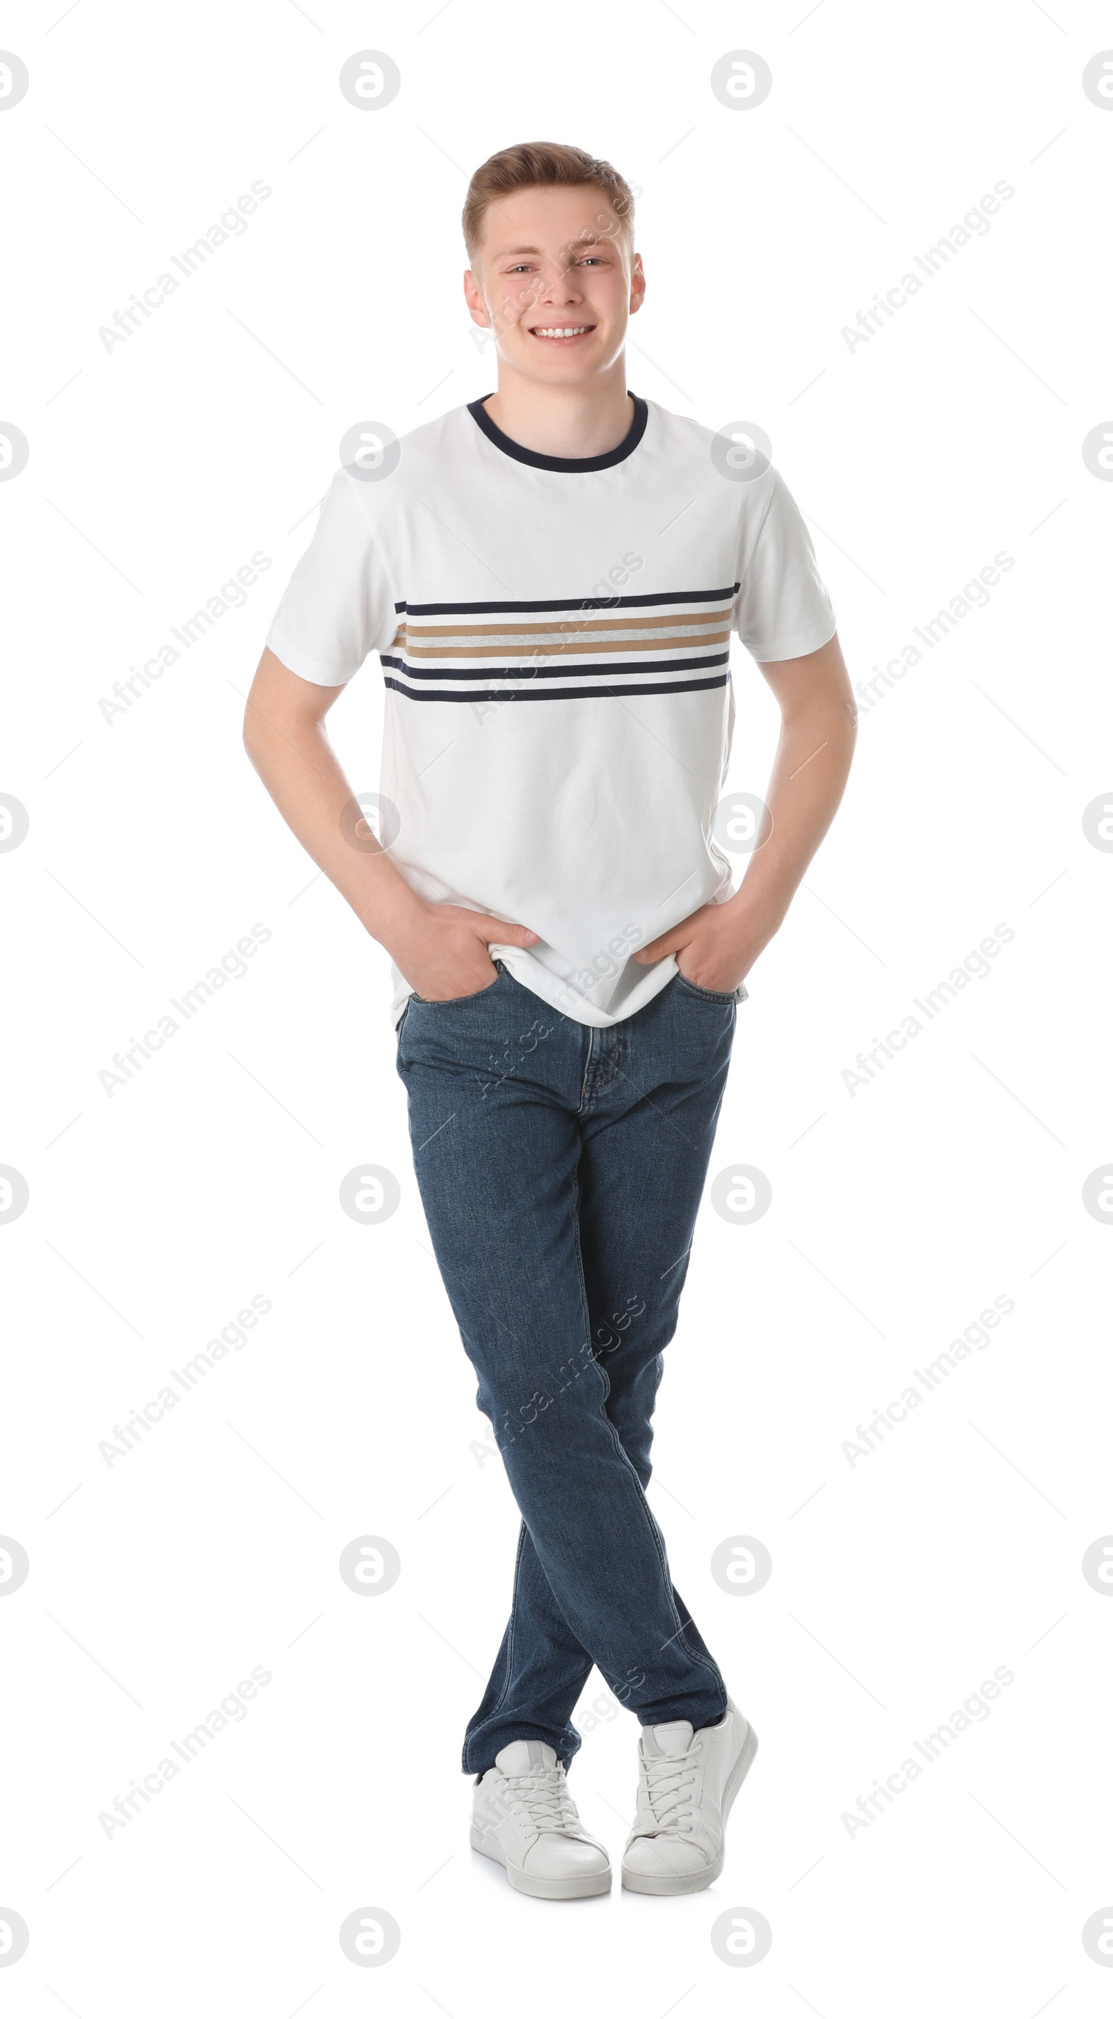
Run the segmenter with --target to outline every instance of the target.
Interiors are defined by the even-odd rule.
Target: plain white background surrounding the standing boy
[[[1081,1557],[1113,1530],[1113,1234],[1083,1183],[1111,1153],[1113,860],[1083,810],[1111,787],[1113,487],[1081,444],[1113,412],[1113,115],[1081,73],[1107,10],[59,14],[0,28],[30,71],[0,113],[0,418],[30,442],[0,485],[0,789],[30,816],[0,860],[0,1161],[30,1187],[0,1228],[0,1530],[30,1557],[0,1605],[0,1906],[30,1930],[8,2011],[1105,2013],[1081,1928],[1113,1900],[1113,1605]],[[774,73],[751,111],[709,89],[739,46]],[[341,97],[360,48],[398,63],[390,107]],[[517,1516],[428,1252],[388,957],[240,749],[345,428],[493,390],[459,212],[487,153],[537,137],[644,192],[630,384],[768,430],[854,678],[1014,559],[863,707],[836,828],[739,1012],[713,1173],[757,1165],[774,1203],[753,1226],[705,1203],[650,1488],[762,1738],[723,1878],[564,1908],[467,1847],[461,1732]],[[273,194],[246,232],[107,353],[99,327],[252,180]],[[992,228],[850,351],[840,329],[998,180]],[[244,608],[107,723],[113,682],[257,551]],[[735,688],[731,785],[762,793],[776,709],[745,654]],[[331,717],[360,791],[380,713],[368,664]],[[109,1096],[113,1052],[252,923],[248,973]],[[998,923],[992,973],[850,1094],[854,1054]],[[360,1159],[398,1175],[382,1226],[339,1209]],[[109,1468],[113,1423],[257,1294],[246,1347]],[[854,1425],[996,1296],[1016,1308],[990,1347],[850,1466]],[[402,1559],[374,1599],[337,1575],[362,1534]],[[733,1534],[772,1551],[751,1597],[711,1577]],[[273,1680],[248,1714],[107,1837],[99,1813],[252,1666]],[[990,1716],[850,1835],[998,1666]],[[598,1676],[596,1698],[572,1785],[618,1864],[636,1724]],[[374,1973],[337,1942],[362,1906],[402,1930]],[[709,1940],[731,1908],[774,1930],[741,1981]]]

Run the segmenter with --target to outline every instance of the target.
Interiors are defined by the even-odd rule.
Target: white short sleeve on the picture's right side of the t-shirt
[[[808,527],[778,470],[751,551],[739,559],[739,581],[733,628],[753,658],[802,658],[834,636]]]

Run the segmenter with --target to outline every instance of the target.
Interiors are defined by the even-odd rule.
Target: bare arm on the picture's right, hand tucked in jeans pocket
[[[697,987],[731,993],[780,929],[800,878],[834,820],[850,757],[856,707],[838,646],[828,638],[804,658],[762,664],[782,715],[780,743],[749,866],[725,905],[701,905],[636,961],[673,953]]]

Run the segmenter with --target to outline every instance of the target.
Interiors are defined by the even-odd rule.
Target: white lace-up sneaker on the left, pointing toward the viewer
[[[610,1857],[584,1829],[564,1767],[539,1738],[515,1738],[495,1755],[475,1789],[471,1847],[535,1900],[610,1892]]]

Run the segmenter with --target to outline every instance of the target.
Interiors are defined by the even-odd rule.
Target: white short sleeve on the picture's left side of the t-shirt
[[[358,479],[337,470],[267,644],[303,680],[343,686],[368,652],[388,650],[396,632],[394,588]]]

